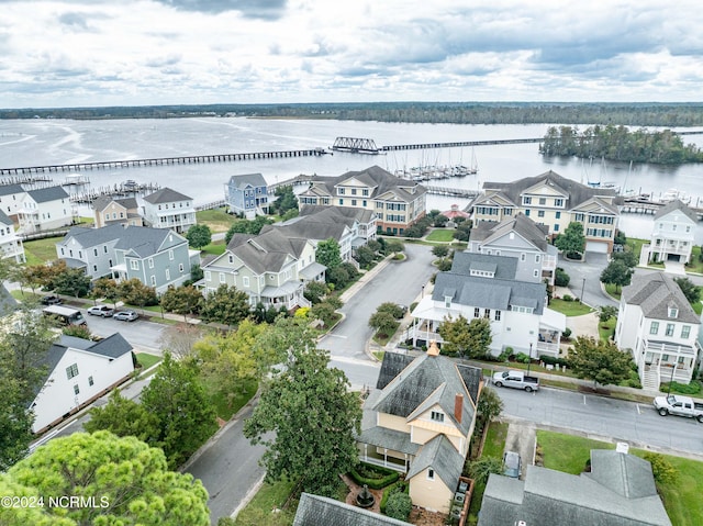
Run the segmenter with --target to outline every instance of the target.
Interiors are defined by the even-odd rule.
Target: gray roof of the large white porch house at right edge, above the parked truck
[[[635,275],[633,281],[623,288],[622,299],[631,305],[639,305],[646,317],[671,320],[677,322],[700,324],[701,320],[681,292],[681,288],[668,275]],[[679,312],[676,318],[669,317],[669,306]]]

